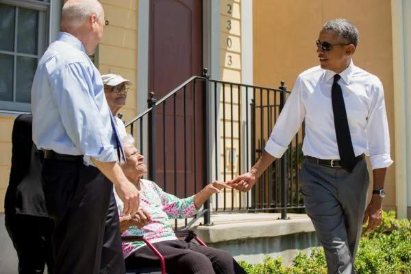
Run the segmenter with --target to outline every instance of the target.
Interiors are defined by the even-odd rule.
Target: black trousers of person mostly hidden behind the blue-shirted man
[[[5,228],[12,239],[18,257],[18,273],[53,273],[51,233],[53,220],[25,214],[5,214]],[[0,271],[1,272],[1,271]]]

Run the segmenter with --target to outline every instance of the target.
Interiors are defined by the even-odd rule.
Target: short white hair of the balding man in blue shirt
[[[80,25],[92,14],[103,16],[103,7],[98,0],[66,1],[62,9],[62,25]]]

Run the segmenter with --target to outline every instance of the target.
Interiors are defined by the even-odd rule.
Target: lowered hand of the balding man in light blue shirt
[[[124,203],[123,214],[134,215],[140,205],[140,191],[137,190],[134,184],[126,181],[121,184],[114,185],[116,193]]]

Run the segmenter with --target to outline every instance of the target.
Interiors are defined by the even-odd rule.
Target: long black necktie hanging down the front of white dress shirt
[[[353,143],[351,142],[351,134],[349,134],[343,91],[340,85],[337,84],[340,78],[340,75],[334,75],[334,82],[332,83],[331,89],[332,112],[334,113],[334,126],[336,127],[341,166],[351,173],[356,166],[356,155],[354,154]]]

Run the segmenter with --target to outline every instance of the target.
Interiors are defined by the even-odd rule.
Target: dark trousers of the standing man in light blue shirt
[[[54,272],[125,273],[112,183],[95,167],[46,159],[42,184],[55,225]]]

